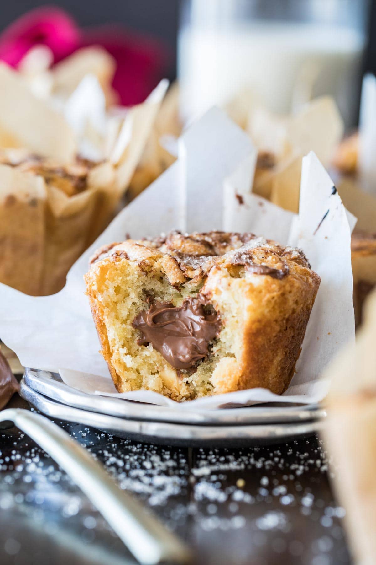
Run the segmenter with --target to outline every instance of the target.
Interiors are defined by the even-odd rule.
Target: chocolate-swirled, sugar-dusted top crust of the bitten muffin
[[[107,257],[126,258],[142,267],[160,263],[172,285],[194,279],[199,282],[211,268],[244,268],[246,271],[282,279],[289,273],[289,263],[311,268],[299,249],[283,247],[253,233],[207,232],[183,234],[178,231],[145,240],[127,240],[102,247],[91,263]]]

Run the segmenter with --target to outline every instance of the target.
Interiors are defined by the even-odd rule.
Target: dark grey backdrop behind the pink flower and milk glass
[[[203,0],[205,1],[205,0]],[[353,0],[357,2],[357,0]],[[55,5],[67,10],[82,26],[98,26],[106,23],[123,24],[140,33],[152,34],[165,42],[171,53],[167,73],[169,79],[176,76],[176,32],[179,21],[179,0],[14,0],[1,2],[0,29],[38,6]],[[376,0],[371,0],[369,18],[369,47],[364,67],[376,73]]]

